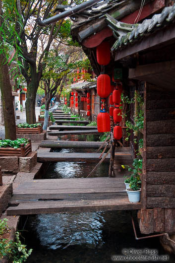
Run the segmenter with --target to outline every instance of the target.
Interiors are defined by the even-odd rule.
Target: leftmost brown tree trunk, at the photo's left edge
[[[0,2],[0,14],[1,14],[1,2]],[[1,18],[0,18],[1,25]],[[0,42],[2,43],[2,37],[0,36]],[[3,43],[0,47],[3,50]],[[2,108],[4,116],[4,126],[5,126],[5,139],[16,139],[16,124],[14,117],[14,106],[13,97],[11,92],[11,84],[8,74],[8,66],[4,65],[6,59],[3,56],[3,52],[0,54],[0,90],[2,98]]]

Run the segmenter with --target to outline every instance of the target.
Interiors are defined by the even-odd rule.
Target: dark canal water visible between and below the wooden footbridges
[[[85,177],[94,166],[94,163],[86,162],[52,163],[43,179]],[[107,176],[108,166],[108,163],[101,165],[94,176]],[[134,217],[136,222],[136,213]],[[175,263],[174,256],[163,250],[158,238],[135,240],[129,211],[30,215],[24,229],[27,230],[22,232],[25,243],[33,249],[27,263],[131,262],[112,260],[113,256],[123,256],[123,250],[127,250],[129,256],[138,256],[133,255],[133,251],[142,251],[142,255],[145,252],[149,257],[150,251],[154,251],[153,256],[167,255],[169,259],[165,258],[164,262]],[[152,259],[144,261],[138,258],[132,262],[154,262]],[[159,259],[157,262],[162,261]]]

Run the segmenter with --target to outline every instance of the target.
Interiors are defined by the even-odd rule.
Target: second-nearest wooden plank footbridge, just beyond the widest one
[[[84,153],[84,152],[41,152],[37,154],[38,162],[97,162],[100,161],[101,153]],[[110,155],[108,155],[105,161],[109,162]]]

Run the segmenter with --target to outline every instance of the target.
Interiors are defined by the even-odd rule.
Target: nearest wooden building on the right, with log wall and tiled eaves
[[[96,47],[108,41],[112,53],[105,73],[112,78],[114,68],[121,68],[123,93],[130,98],[135,91],[143,96],[144,129],[139,134],[144,143],[140,230],[144,234],[172,234],[175,233],[175,3],[146,1],[140,16],[137,16],[138,1],[115,3],[109,2],[106,10],[103,2],[96,4],[86,21],[79,14],[71,32],[97,76],[101,68]],[[94,23],[92,14],[97,7],[99,20]],[[127,120],[133,121],[136,106],[131,105]],[[128,112],[126,105],[123,110]],[[122,123],[123,139],[126,119]],[[133,133],[128,143],[134,158],[137,145]]]

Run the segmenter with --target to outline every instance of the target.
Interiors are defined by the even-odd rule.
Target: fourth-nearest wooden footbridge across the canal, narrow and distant
[[[95,129],[91,129],[91,130],[77,130],[77,131],[73,131],[73,130],[69,130],[69,131],[48,131],[48,135],[53,135],[53,136],[59,136],[59,135],[81,135],[81,134],[102,134],[100,132],[98,132],[98,130]]]

